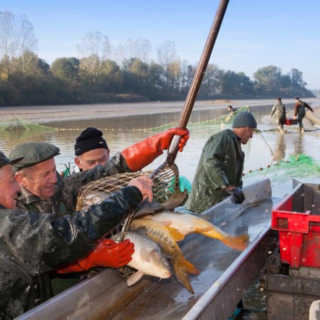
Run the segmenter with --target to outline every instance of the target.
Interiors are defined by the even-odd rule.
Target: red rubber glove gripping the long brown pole
[[[169,147],[173,135],[182,135],[179,142],[181,152],[189,138],[188,129],[170,128],[125,148],[121,154],[132,171],[141,170]]]

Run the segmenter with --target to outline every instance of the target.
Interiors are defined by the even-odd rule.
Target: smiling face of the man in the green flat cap
[[[27,169],[27,174],[22,174],[20,171],[15,173],[18,183],[40,198],[51,197],[57,182],[54,158],[32,165]]]

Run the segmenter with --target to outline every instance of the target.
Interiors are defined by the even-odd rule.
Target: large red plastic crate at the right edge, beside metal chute
[[[281,262],[292,268],[320,267],[320,215],[311,214],[319,212],[319,200],[318,184],[300,183],[272,209],[271,227],[279,230]]]

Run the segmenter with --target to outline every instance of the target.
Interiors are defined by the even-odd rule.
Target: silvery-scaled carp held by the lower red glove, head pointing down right
[[[115,240],[120,236],[115,236]],[[132,260],[127,263],[137,271],[127,280],[128,286],[137,282],[143,274],[157,276],[159,278],[168,278],[171,276],[169,262],[162,255],[159,246],[152,241],[146,234],[137,231],[127,231],[124,233],[124,239],[129,239],[134,243],[134,252],[131,255]]]

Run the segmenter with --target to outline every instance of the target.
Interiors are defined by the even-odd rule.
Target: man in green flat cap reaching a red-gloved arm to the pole
[[[9,156],[25,155],[23,160],[13,165],[15,179],[21,186],[17,206],[34,213],[53,213],[57,217],[74,212],[82,185],[105,176],[140,170],[169,147],[174,134],[182,135],[179,143],[179,150],[182,151],[188,131],[170,128],[115,153],[103,165],[96,165],[64,179],[56,172],[54,162],[54,156],[59,154],[58,147],[45,142],[19,144]]]

